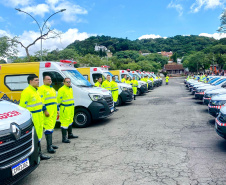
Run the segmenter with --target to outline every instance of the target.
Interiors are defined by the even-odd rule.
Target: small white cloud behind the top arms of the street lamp
[[[50,11],[50,8],[46,4],[38,4],[36,6],[27,6],[27,7],[23,8],[23,11],[28,12],[33,15],[39,15],[40,17],[44,17],[45,14]]]

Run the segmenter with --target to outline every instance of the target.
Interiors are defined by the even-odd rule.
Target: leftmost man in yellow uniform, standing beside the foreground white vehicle
[[[39,79],[35,74],[29,75],[27,78],[29,86],[21,93],[20,106],[28,109],[32,115],[32,121],[38,136],[39,155],[41,160],[50,159],[49,156],[41,152],[41,139],[44,125],[44,115],[47,115],[46,107],[43,106],[41,96],[38,92]]]

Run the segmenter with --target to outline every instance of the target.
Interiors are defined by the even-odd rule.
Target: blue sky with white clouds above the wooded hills
[[[15,8],[31,14],[40,26],[54,12],[47,26],[61,38],[43,41],[43,48],[63,49],[74,40],[91,35],[142,38],[202,35],[219,39],[217,29],[226,0],[1,0],[0,36],[18,36],[28,45],[39,35],[35,21]],[[45,31],[45,30],[44,30]],[[19,48],[20,55],[24,55]],[[40,50],[40,43],[31,53]]]

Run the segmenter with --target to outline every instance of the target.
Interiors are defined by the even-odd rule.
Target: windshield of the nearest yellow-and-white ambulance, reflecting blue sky
[[[71,79],[71,82],[77,86],[92,87],[91,83],[82,76],[77,70],[63,70],[64,75]]]

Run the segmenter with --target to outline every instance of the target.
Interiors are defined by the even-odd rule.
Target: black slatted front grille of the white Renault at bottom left
[[[12,134],[7,135],[7,141],[2,139],[6,136],[0,137],[3,144],[0,145],[0,167],[6,166],[20,159],[22,156],[30,152],[32,148],[32,128],[33,125],[21,130],[21,137],[15,140]]]

